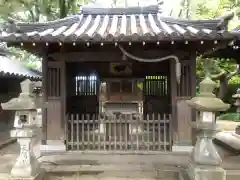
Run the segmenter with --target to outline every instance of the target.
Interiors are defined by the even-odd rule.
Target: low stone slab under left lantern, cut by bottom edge
[[[9,174],[0,174],[0,180],[44,180],[45,170],[41,169],[36,176],[16,177]]]

